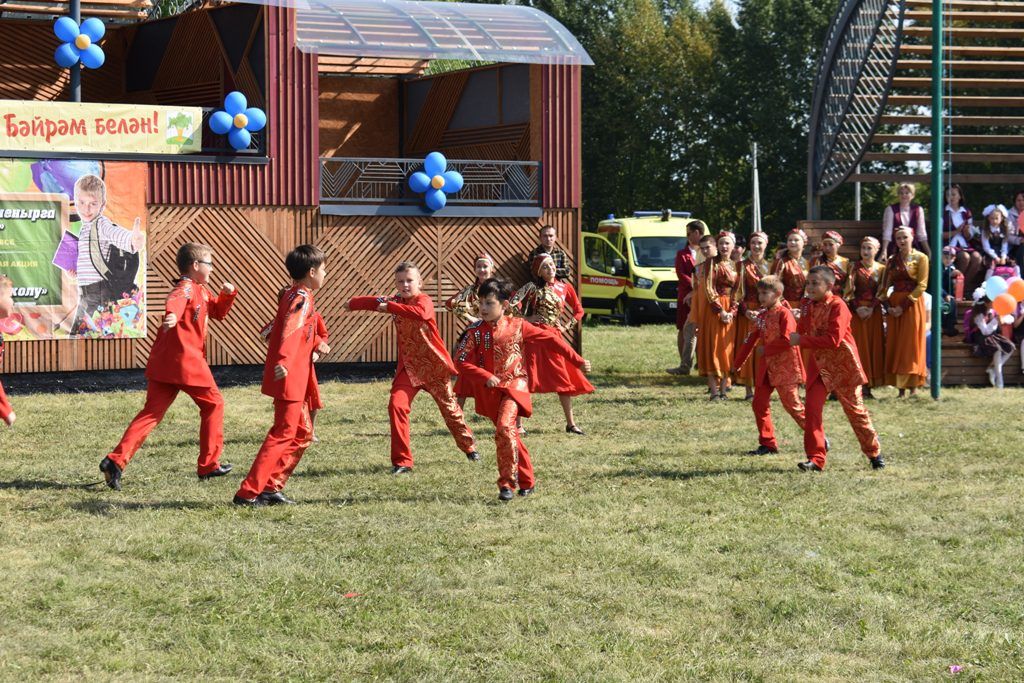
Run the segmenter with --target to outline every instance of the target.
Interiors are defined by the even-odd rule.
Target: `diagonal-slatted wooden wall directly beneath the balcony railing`
[[[570,257],[579,251],[580,215],[575,210],[548,211],[537,221],[523,218],[404,218],[319,216],[302,240],[328,253],[328,283],[317,307],[331,331],[333,362],[382,362],[397,357],[394,326],[386,315],[342,314],[350,297],[390,294],[393,269],[401,260],[416,262],[424,291],[437,309],[437,324],[451,347],[462,325],[443,308],[453,294],[472,282],[473,261],[483,251],[499,273],[517,284],[525,276],[524,261],[545,223],[558,228]],[[573,268],[575,270],[575,268]]]

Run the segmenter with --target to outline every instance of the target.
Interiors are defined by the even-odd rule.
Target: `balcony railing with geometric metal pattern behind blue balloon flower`
[[[423,196],[409,188],[409,176],[423,170],[423,158],[321,158],[321,204],[416,205]],[[447,160],[462,174],[463,188],[449,205],[537,207],[541,164],[521,161]]]

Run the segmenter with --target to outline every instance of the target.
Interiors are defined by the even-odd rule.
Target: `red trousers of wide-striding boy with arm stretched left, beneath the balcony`
[[[388,401],[387,413],[391,419],[391,464],[395,467],[413,466],[413,449],[410,445],[409,413],[413,399],[420,390],[426,391],[437,403],[452,436],[459,450],[470,453],[476,450],[473,432],[466,426],[466,419],[459,408],[452,383],[447,378],[435,380],[422,387],[414,387],[409,381],[404,368],[394,377],[391,384],[391,400]]]

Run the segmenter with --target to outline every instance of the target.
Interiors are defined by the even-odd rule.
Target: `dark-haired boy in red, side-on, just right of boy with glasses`
[[[324,252],[312,245],[299,245],[285,258],[292,287],[279,300],[263,366],[263,393],[273,398],[273,426],[234,495],[236,505],[293,503],[282,489],[312,438],[306,397],[313,353],[331,351],[316,334],[313,306],[313,292],[327,279],[326,261]]]

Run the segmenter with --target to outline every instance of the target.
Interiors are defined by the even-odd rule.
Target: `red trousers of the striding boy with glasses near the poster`
[[[200,476],[220,467],[220,454],[224,451],[224,399],[217,387],[190,387],[150,380],[145,387],[145,405],[128,425],[121,441],[108,456],[122,470],[128,466],[135,453],[145,442],[150,432],[164,419],[179,391],[188,394],[199,405],[199,461],[196,470]]]

